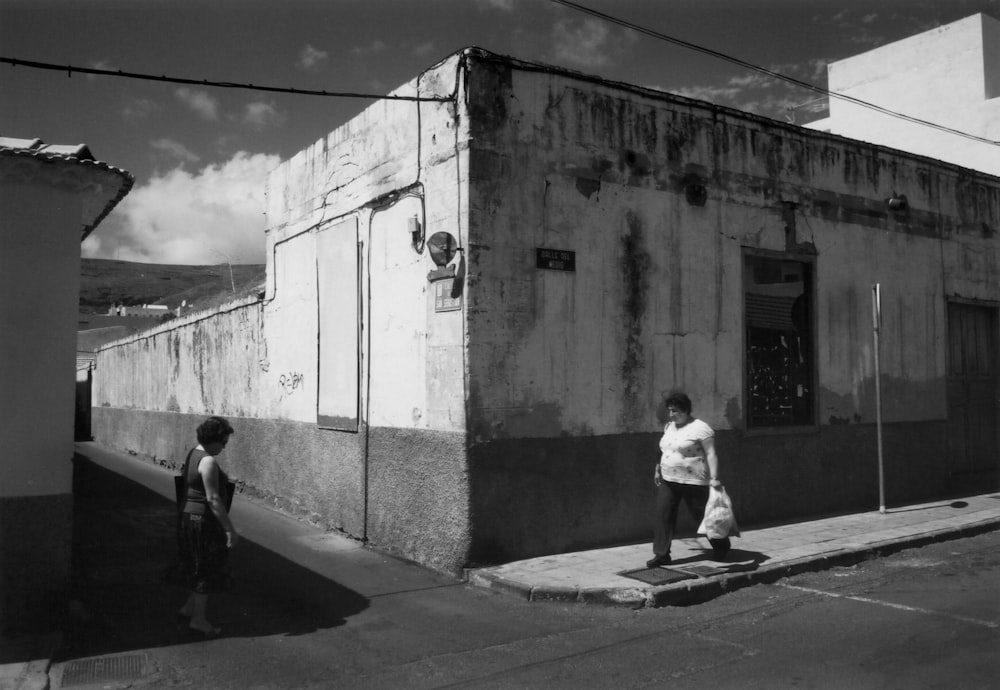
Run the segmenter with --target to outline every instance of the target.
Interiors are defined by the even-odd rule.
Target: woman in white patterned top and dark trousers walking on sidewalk
[[[646,565],[656,568],[670,563],[670,543],[677,527],[681,501],[700,522],[708,502],[708,487],[720,487],[719,458],[715,453],[715,432],[705,422],[691,416],[691,399],[671,393],[666,401],[670,421],[660,439],[660,461],[656,484],[656,515],[653,522],[653,558]],[[729,552],[729,538],[709,539],[716,560]]]

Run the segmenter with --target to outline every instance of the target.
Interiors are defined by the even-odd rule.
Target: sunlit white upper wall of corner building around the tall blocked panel
[[[457,56],[395,93],[444,96],[457,86]],[[318,329],[317,232],[353,218],[361,242],[359,404],[375,426],[464,428],[463,311],[435,312],[434,268],[410,221],[430,236],[445,229],[461,243],[467,160],[454,106],[382,101],[304,149],[268,181],[268,291],[272,370],[301,372],[305,394],[271,401],[262,414],[315,421]],[[456,259],[457,261],[457,259]],[[370,397],[365,397],[370,396]],[[310,407],[310,402],[312,407]]]

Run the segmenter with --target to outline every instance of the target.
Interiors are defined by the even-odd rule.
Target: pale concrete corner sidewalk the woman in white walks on
[[[674,540],[667,568],[645,568],[653,556],[646,542],[531,558],[467,575],[474,585],[531,601],[683,606],[804,571],[998,528],[1000,494],[994,493],[743,530],[725,562],[712,561],[708,543],[692,538]]]

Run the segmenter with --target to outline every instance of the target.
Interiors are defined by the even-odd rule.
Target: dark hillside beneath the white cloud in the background
[[[83,259],[80,313],[107,314],[116,304],[162,304],[176,310],[187,302],[186,309],[206,309],[263,290],[264,279],[263,264],[180,266]]]

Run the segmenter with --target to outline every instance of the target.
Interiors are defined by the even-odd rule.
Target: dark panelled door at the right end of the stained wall
[[[997,309],[948,304],[948,438],[956,490],[986,490],[1000,470]],[[992,477],[990,477],[992,475]]]

